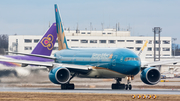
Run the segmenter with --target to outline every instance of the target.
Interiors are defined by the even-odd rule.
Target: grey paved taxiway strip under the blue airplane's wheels
[[[102,94],[168,94],[179,95],[180,90],[170,89],[133,89],[133,90],[111,90],[111,89],[75,89],[61,90],[58,88],[0,88],[0,92],[54,92],[54,93],[102,93]]]

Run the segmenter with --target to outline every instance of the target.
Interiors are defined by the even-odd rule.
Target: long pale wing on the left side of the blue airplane
[[[27,65],[35,66],[45,66],[50,70],[54,67],[65,67],[72,72],[87,73],[92,70],[93,66],[90,65],[74,65],[74,64],[64,64],[64,63],[54,63],[54,62],[38,62],[38,61],[26,61],[26,60],[15,60],[15,59],[0,59],[1,62],[13,62]]]

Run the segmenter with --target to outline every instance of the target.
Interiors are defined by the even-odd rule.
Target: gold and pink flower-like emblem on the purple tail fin
[[[42,40],[41,40],[41,44],[44,46],[44,47],[47,47],[48,50],[52,50],[53,49],[53,35],[52,34],[49,34],[47,37],[44,37]]]

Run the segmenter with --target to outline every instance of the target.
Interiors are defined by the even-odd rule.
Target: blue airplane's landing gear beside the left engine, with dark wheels
[[[69,79],[69,82],[71,81],[71,79],[76,76],[76,73],[74,73],[71,78]],[[73,83],[66,83],[66,84],[61,84],[61,89],[62,90],[68,90],[68,89],[74,89],[74,84]]]

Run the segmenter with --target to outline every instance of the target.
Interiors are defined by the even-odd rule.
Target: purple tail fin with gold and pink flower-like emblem
[[[53,23],[31,54],[50,56],[57,39],[56,23]]]

